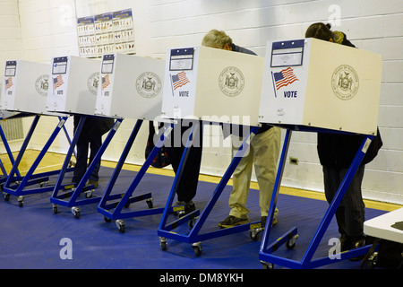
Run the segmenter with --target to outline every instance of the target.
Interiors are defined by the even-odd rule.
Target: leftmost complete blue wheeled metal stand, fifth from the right
[[[48,171],[48,172],[33,174],[34,171],[37,169],[40,161],[42,161],[43,157],[45,156],[50,145],[54,142],[59,131],[64,126],[64,123],[65,123],[67,117],[60,118],[59,123],[57,124],[54,132],[52,133],[52,135],[50,135],[50,137],[47,140],[47,143],[45,144],[43,149],[39,152],[39,155],[38,155],[37,159],[31,165],[30,170],[28,170],[28,172],[26,173],[25,176],[21,177],[21,182],[15,181],[14,175],[18,174],[18,166],[19,166],[22,156],[28,146],[28,143],[30,142],[30,138],[31,138],[36,126],[38,125],[39,117],[40,117],[39,115],[36,115],[34,117],[34,120],[32,121],[32,124],[30,126],[30,131],[28,132],[28,135],[25,137],[24,142],[22,143],[21,150],[20,150],[20,152],[18,152],[17,158],[13,163],[13,168],[10,171],[9,176],[5,180],[4,187],[3,187],[4,200],[8,201],[10,199],[10,195],[19,196],[18,205],[20,207],[23,205],[23,196],[51,191],[53,189],[53,187],[46,186],[47,182],[49,181],[49,176],[56,175],[59,172],[59,170],[52,170],[52,171]],[[32,186],[35,184],[38,184],[39,187],[30,188],[30,189],[25,188],[25,187]]]

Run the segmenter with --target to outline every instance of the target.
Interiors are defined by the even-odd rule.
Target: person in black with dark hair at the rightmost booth
[[[346,34],[340,31],[332,31],[330,30],[330,24],[322,22],[313,23],[306,30],[305,38],[322,39],[355,48],[347,39]],[[363,140],[364,135],[318,133],[317,150],[323,168],[325,196],[329,204],[336,195]],[[365,206],[361,192],[364,165],[373,160],[381,147],[382,139],[378,130],[378,135],[373,138],[364,160],[356,171],[356,175],[336,211],[341,251],[364,246]]]

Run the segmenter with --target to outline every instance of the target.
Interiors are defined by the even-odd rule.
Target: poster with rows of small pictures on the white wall
[[[132,9],[77,19],[80,57],[135,54]]]

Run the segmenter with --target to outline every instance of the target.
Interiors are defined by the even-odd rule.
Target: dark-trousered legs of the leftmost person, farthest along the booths
[[[77,129],[80,123],[80,116],[74,116],[74,126],[73,133]],[[102,135],[107,133],[107,131],[113,126],[113,118],[100,118],[100,117],[86,117],[84,126],[82,126],[81,134],[77,140],[77,162],[75,163],[73,170],[72,182],[79,184],[81,178],[84,176],[87,167],[90,165],[92,160],[97,155],[99,148],[102,145]],[[88,157],[88,149],[90,147],[90,161]],[[99,168],[100,161],[91,172],[89,178],[89,184],[94,185],[94,188],[98,187],[99,181]]]

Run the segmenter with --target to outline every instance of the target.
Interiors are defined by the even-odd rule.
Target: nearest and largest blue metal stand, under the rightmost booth
[[[346,260],[348,258],[358,257],[366,254],[368,250],[371,248],[371,246],[356,248],[353,250],[336,254],[332,257],[322,257],[313,260],[313,254],[318,248],[325,231],[328,229],[330,221],[332,220],[334,214],[336,213],[336,210],[343,196],[346,194],[347,187],[349,186],[352,178],[354,178],[356,170],[359,168],[361,161],[363,161],[364,159],[364,155],[366,152],[366,148],[364,148],[364,146],[367,147],[369,143],[371,143],[371,141],[373,140],[373,135],[367,135],[364,138],[364,141],[361,147],[359,148],[358,152],[356,152],[356,157],[354,158],[354,161],[351,163],[349,169],[347,170],[346,176],[343,179],[342,183],[340,184],[338,192],[334,196],[332,202],[329,205],[329,208],[324,214],[322,222],[320,223],[318,230],[316,230],[313,239],[304,254],[303,259],[299,262],[296,260],[278,257],[272,254],[283,244],[286,244],[286,247],[288,249],[294,248],[296,245],[296,239],[298,238],[298,231],[296,227],[294,227],[291,230],[288,230],[279,239],[276,239],[273,243],[269,245],[271,224],[273,221],[277,196],[279,196],[279,187],[281,184],[281,178],[283,175],[284,165],[287,158],[287,151],[290,143],[291,134],[292,134],[291,129],[287,129],[287,134],[284,140],[283,150],[281,152],[281,157],[279,161],[279,170],[277,173],[276,183],[273,189],[273,196],[270,202],[270,209],[268,216],[268,219],[270,220],[266,222],[266,228],[264,230],[262,238],[261,250],[259,252],[259,259],[261,260],[262,265],[266,268],[273,268],[274,265],[282,265],[288,268],[308,269],[308,268],[316,268],[322,265],[330,265],[332,263],[339,262],[340,260]]]

